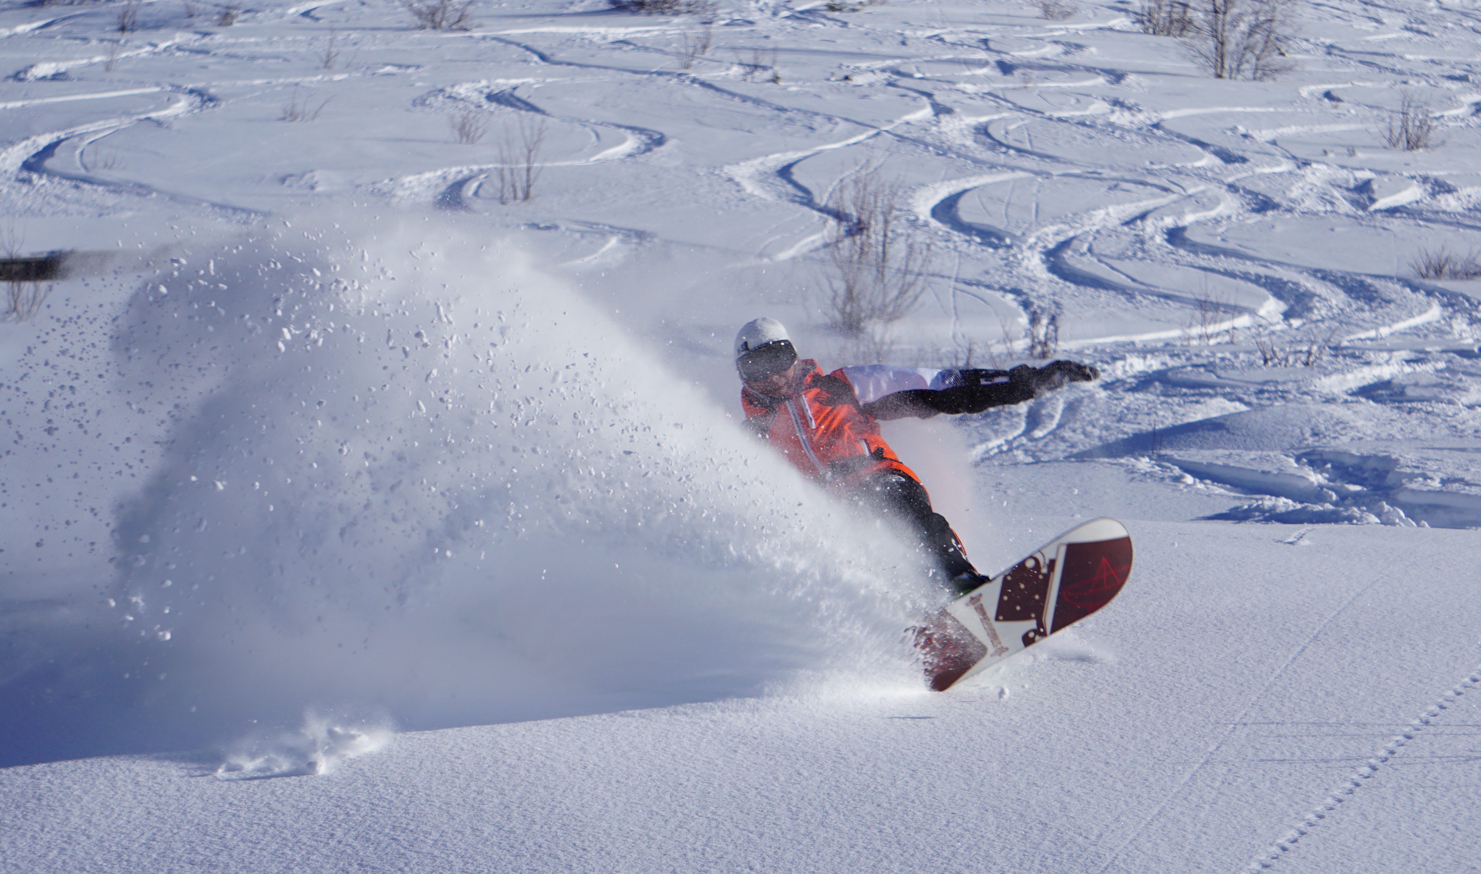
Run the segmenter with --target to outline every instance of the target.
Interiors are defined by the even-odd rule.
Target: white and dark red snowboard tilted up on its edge
[[[985,671],[1111,603],[1131,573],[1114,518],[1072,527],[911,628],[936,692]]]

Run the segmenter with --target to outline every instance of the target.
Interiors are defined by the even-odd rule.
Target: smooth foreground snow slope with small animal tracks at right
[[[902,674],[385,747],[310,721],[225,763],[12,767],[4,856],[16,871],[1468,870],[1474,535],[1133,536],[1137,584],[1115,610],[972,689],[929,695]],[[289,776],[252,779],[270,775]]]

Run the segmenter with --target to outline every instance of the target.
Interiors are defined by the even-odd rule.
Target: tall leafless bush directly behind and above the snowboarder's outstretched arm
[[[828,200],[826,296],[832,327],[857,338],[899,321],[927,290],[930,247],[908,238],[896,222],[899,185],[878,167],[859,167]]]

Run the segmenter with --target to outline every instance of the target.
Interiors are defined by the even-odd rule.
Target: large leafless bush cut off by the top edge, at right
[[[1293,0],[1194,0],[1188,53],[1214,79],[1266,81],[1290,73]]]

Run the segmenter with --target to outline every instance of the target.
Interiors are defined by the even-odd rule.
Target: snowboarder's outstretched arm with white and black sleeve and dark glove
[[[980,413],[1100,375],[1093,366],[1077,361],[1050,361],[1043,367],[1019,364],[1012,370],[918,370],[872,364],[844,367],[843,372],[853,384],[863,412],[880,421]]]

